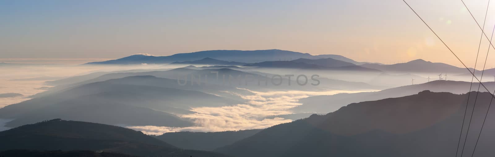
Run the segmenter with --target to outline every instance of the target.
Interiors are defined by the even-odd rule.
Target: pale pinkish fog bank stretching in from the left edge
[[[58,63],[58,62],[56,62]],[[159,65],[141,66],[75,66],[60,64],[0,65],[0,108],[29,100],[29,96],[49,87],[45,81],[85,75],[93,72],[111,72],[132,69],[156,69]],[[7,94],[1,96],[1,94]],[[17,93],[17,95],[10,95]]]

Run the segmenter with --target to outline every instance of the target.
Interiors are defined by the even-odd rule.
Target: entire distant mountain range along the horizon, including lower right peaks
[[[213,59],[214,58],[214,59]],[[279,62],[276,62],[279,61]],[[284,62],[290,61],[290,62]],[[209,50],[192,53],[179,53],[171,56],[151,56],[136,54],[128,57],[108,60],[102,62],[91,62],[92,64],[208,64],[228,66],[260,66],[274,68],[297,68],[297,69],[325,69],[324,67],[347,67],[334,68],[335,70],[357,70],[356,68],[375,69],[394,73],[428,73],[440,74],[450,73],[465,74],[465,68],[451,66],[445,63],[433,63],[422,59],[384,65],[380,63],[356,62],[340,55],[310,55],[286,50]],[[252,63],[252,64],[248,64]],[[298,64],[299,63],[299,64]],[[305,64],[300,64],[305,63]],[[357,67],[356,65],[359,65]],[[352,68],[353,67],[353,68]],[[364,68],[361,68],[364,67]],[[470,71],[474,71],[469,68]]]

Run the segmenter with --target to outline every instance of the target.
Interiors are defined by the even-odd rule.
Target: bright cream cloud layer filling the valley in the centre
[[[352,93],[360,91],[272,91],[257,92],[255,95],[242,96],[247,104],[238,104],[224,107],[199,107],[191,111],[195,114],[182,115],[182,118],[191,118],[195,122],[192,127],[164,127],[164,126],[128,126],[128,128],[142,131],[145,134],[161,135],[165,132],[177,131],[227,131],[262,129],[273,125],[291,122],[291,119],[265,118],[267,116],[293,114],[289,109],[301,105],[297,101],[301,98],[316,95],[331,95],[337,93]]]

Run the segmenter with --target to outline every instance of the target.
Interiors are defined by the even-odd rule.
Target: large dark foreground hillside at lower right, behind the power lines
[[[216,151],[236,157],[453,157],[467,98],[422,91],[353,103],[327,115],[275,125]],[[479,93],[464,154],[473,152],[491,98]],[[474,103],[469,100],[468,111]],[[494,153],[493,120],[487,119],[475,156]]]

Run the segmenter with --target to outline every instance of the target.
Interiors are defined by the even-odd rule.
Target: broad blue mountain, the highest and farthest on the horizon
[[[167,64],[172,62],[200,60],[207,57],[215,58],[218,60],[224,60],[224,61],[244,62],[244,63],[256,63],[256,62],[264,62],[264,61],[290,61],[299,58],[307,58],[307,59],[334,58],[337,60],[345,59],[346,62],[352,63],[351,59],[348,59],[341,55],[311,55],[309,53],[270,49],[270,50],[248,50],[248,51],[209,50],[209,51],[198,51],[192,53],[178,53],[171,56],[132,55],[120,59],[108,60],[103,62],[91,62],[87,64],[142,64],[142,63]]]

